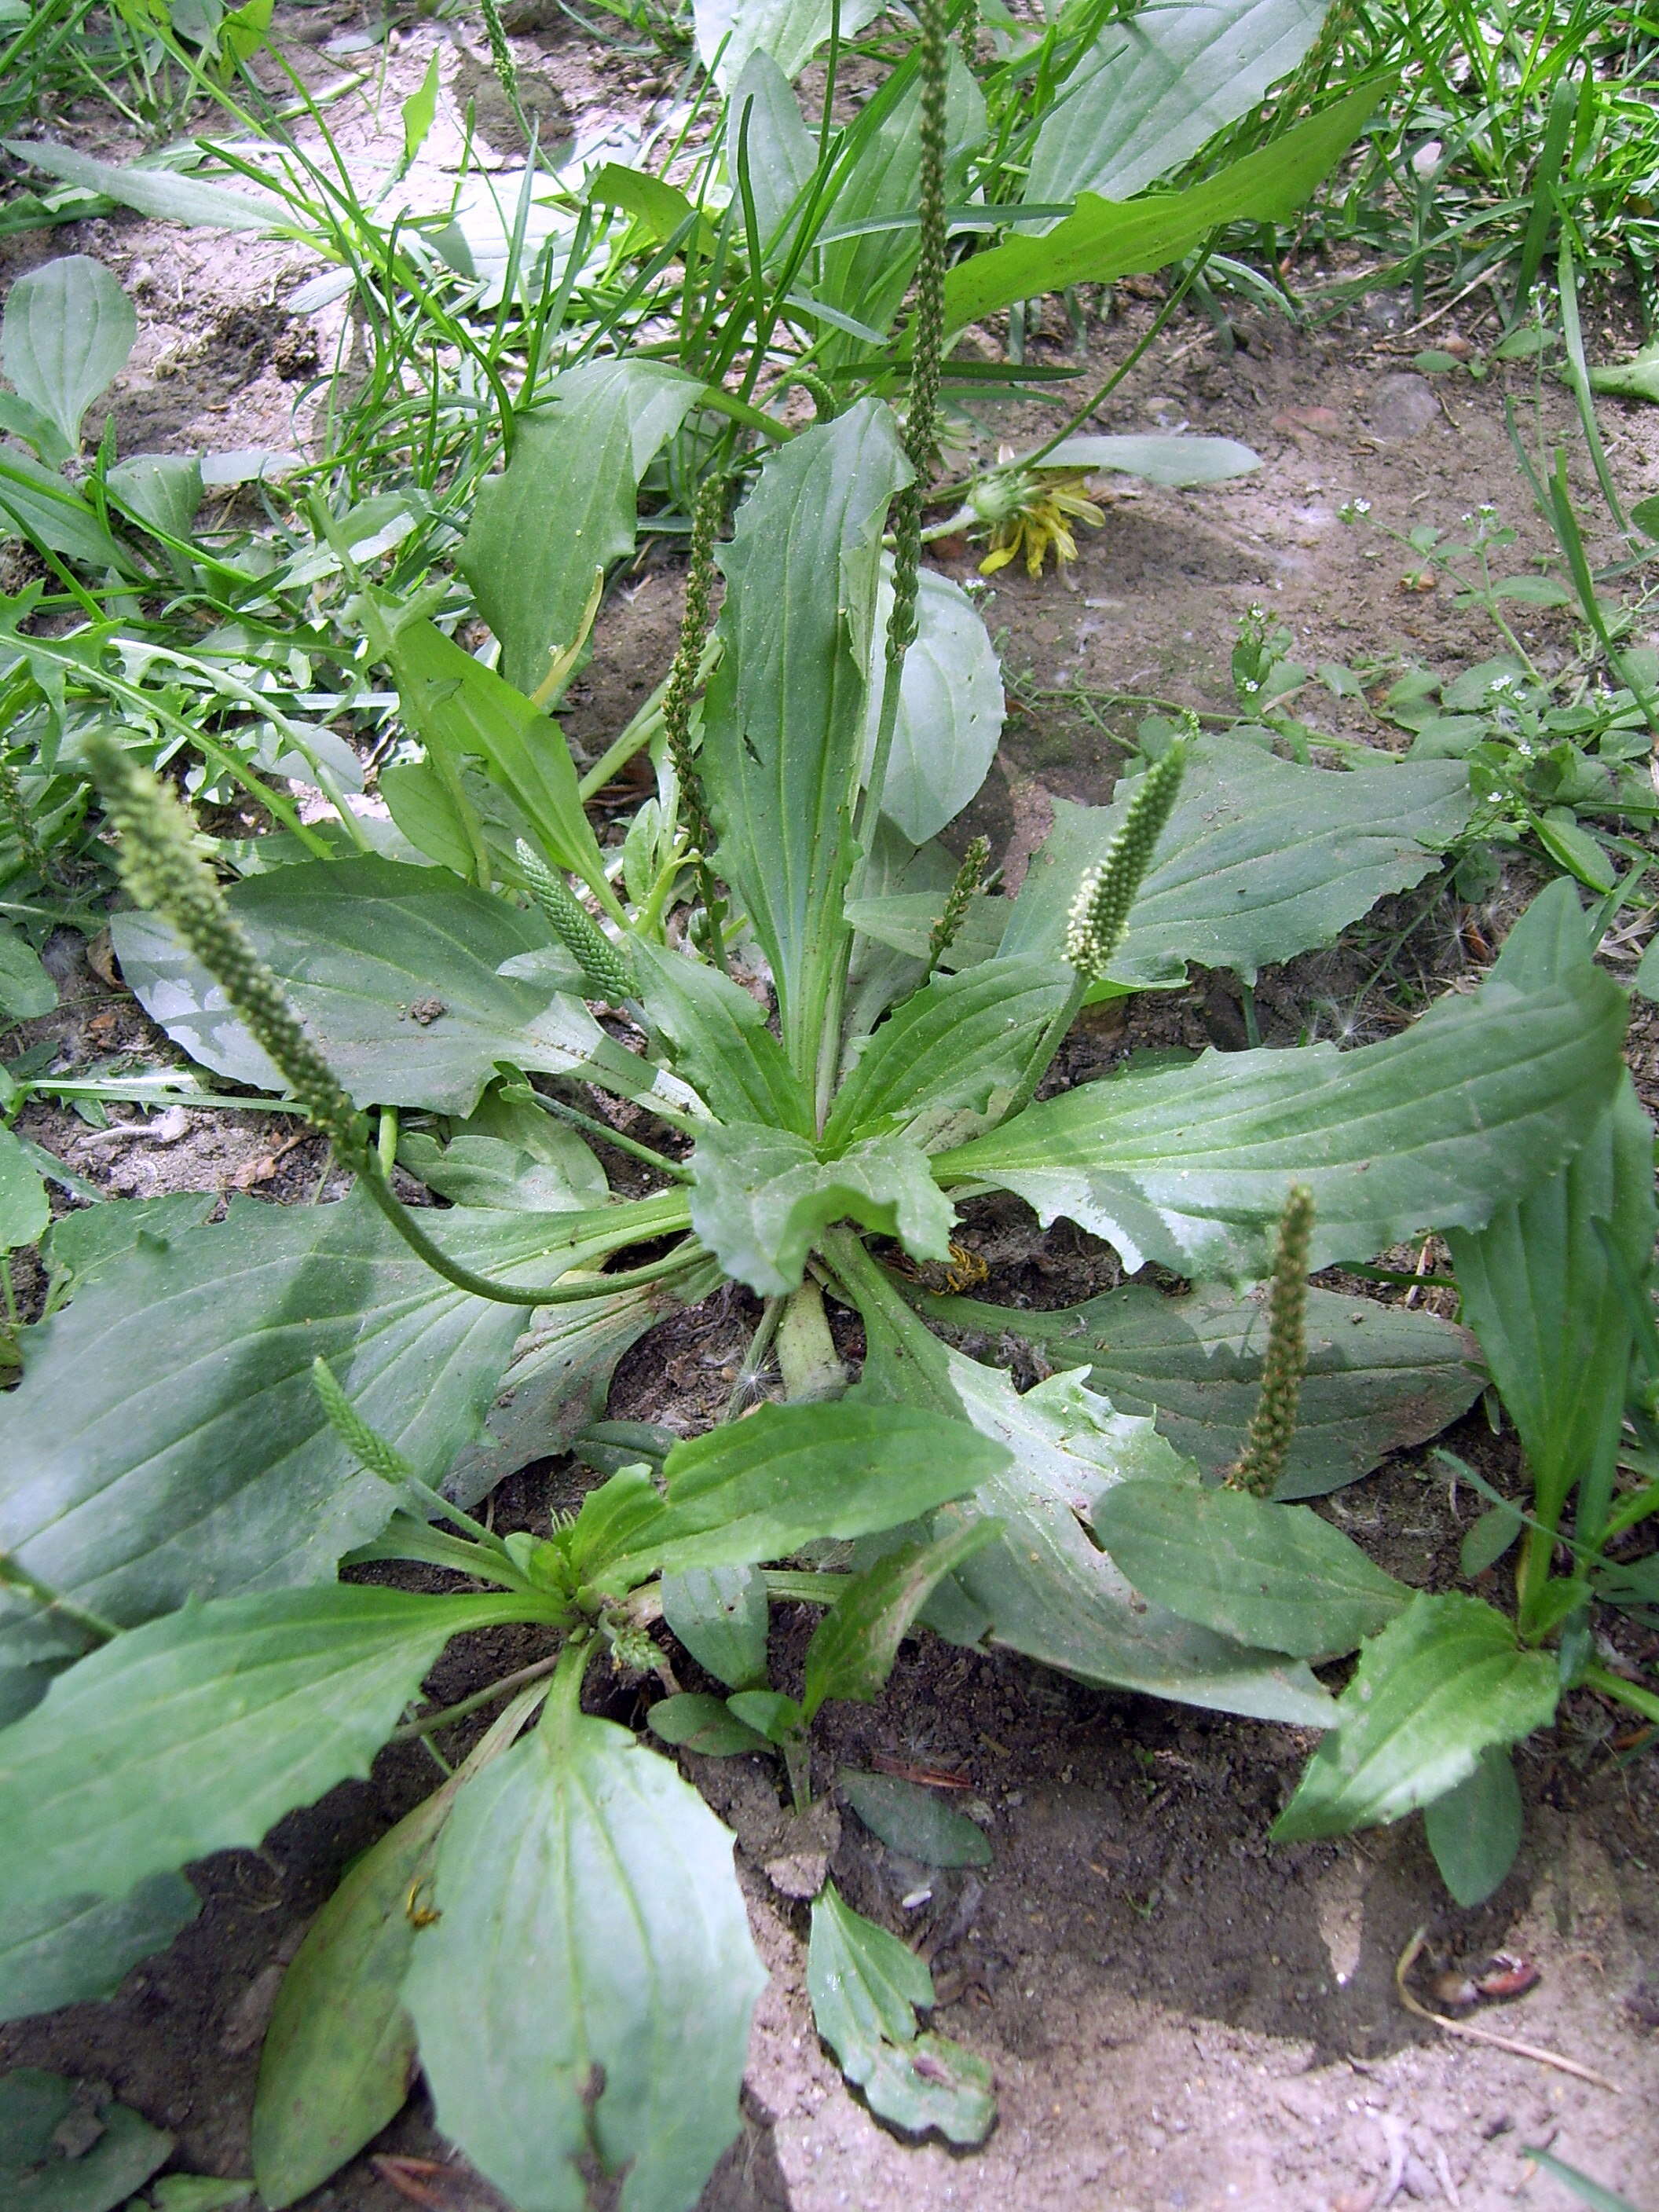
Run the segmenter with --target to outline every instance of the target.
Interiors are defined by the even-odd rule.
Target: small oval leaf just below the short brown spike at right
[[[1144,1597],[1296,1659],[1345,1657],[1411,1597],[1312,1506],[1190,1482],[1119,1482],[1095,1500],[1091,1522]]]

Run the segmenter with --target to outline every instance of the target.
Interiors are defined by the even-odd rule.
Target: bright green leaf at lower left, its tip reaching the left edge
[[[369,1772],[453,1635],[511,1619],[522,1597],[330,1584],[190,1604],[102,1644],[0,1734],[11,1907],[126,1896],[259,1843]]]

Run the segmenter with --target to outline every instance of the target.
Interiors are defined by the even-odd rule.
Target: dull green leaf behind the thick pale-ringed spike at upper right
[[[1121,830],[1117,805],[1055,801],[1055,827],[1004,907],[1004,953],[1057,958],[1084,872]],[[1460,761],[1402,761],[1336,772],[1276,761],[1259,745],[1201,739],[1175,812],[1110,964],[1115,982],[1183,982],[1188,962],[1259,969],[1336,936],[1385,891],[1405,891],[1440,867],[1440,849],[1469,821]]]

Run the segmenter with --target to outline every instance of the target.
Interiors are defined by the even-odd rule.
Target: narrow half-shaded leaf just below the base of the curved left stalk
[[[531,1460],[568,1451],[604,1411],[611,1376],[624,1352],[646,1329],[697,1305],[717,1287],[719,1270],[710,1263],[666,1285],[613,1292],[595,1287],[593,1298],[546,1307],[513,1347],[484,1433],[451,1462],[445,1495],[460,1506],[476,1506]]]

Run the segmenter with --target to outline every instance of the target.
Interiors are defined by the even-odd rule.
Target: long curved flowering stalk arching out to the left
[[[254,951],[246,929],[226,905],[223,891],[190,843],[192,825],[179,801],[148,770],[126,754],[115,739],[93,737],[86,761],[104,794],[104,812],[119,832],[115,865],[122,883],[139,907],[159,914],[212,975],[230,1004],[252,1031],[254,1042],[276,1064],[290,1097],[305,1119],[323,1130],[338,1164],[358,1179],[392,1228],[436,1274],[473,1298],[498,1305],[566,1305],[591,1298],[595,1285],[553,1283],[540,1290],[513,1290],[473,1274],[449,1259],[420,1228],[409,1208],[387,1181],[367,1124],[319,1053],[299,1015],[288,1004],[281,982]],[[659,1267],[637,1267],[633,1274],[606,1276],[604,1287],[628,1290],[655,1283]]]

